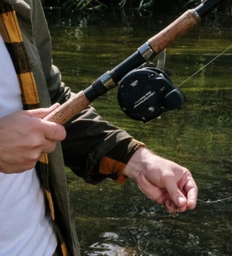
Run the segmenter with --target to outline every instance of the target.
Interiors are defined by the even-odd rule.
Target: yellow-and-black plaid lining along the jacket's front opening
[[[36,109],[39,105],[37,86],[30,69],[30,61],[26,54],[24,42],[20,32],[16,13],[11,5],[0,0],[0,34],[11,56],[17,78],[21,88],[21,98],[24,110]],[[52,194],[49,191],[48,155],[43,153],[37,163],[37,172],[47,197],[51,218],[55,220]],[[64,242],[60,242],[63,255],[67,255]]]

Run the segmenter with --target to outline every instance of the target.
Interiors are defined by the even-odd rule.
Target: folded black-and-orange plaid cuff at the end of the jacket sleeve
[[[120,142],[100,160],[99,174],[115,179],[120,184],[125,183],[127,176],[123,173],[124,168],[139,147],[145,147],[145,144],[134,138]]]

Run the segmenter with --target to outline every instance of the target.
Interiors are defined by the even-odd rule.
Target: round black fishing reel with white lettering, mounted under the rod
[[[180,109],[185,99],[167,73],[149,66],[126,74],[119,83],[117,98],[126,115],[144,123],[164,111]]]

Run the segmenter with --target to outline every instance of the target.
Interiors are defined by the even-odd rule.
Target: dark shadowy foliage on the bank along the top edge
[[[134,15],[169,15],[181,14],[187,8],[194,8],[201,0],[42,0],[44,9],[59,9],[59,15],[70,15],[71,12],[78,12],[79,17],[97,17],[113,13],[115,16],[122,16],[122,19],[130,19]],[[61,14],[62,10],[62,14]],[[225,0],[219,6],[220,14],[232,15],[231,0]],[[109,12],[110,11],[110,12]],[[117,14],[116,14],[117,13]]]

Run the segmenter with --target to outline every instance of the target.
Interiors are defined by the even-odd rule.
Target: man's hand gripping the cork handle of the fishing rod
[[[0,172],[20,173],[35,167],[42,153],[52,152],[66,137],[65,128],[42,118],[47,109],[22,110],[0,118]]]

